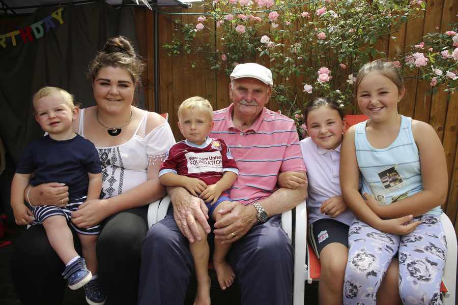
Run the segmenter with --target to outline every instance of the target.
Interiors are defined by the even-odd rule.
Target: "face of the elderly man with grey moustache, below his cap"
[[[271,88],[255,78],[234,79],[229,96],[234,103],[237,117],[252,119],[257,117],[269,101]]]

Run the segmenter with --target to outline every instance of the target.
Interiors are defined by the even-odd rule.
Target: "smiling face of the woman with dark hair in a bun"
[[[103,67],[94,78],[92,86],[99,109],[111,114],[130,109],[135,83],[126,69]]]

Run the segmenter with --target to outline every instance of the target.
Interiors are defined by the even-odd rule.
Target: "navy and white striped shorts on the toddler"
[[[70,226],[79,234],[98,235],[100,234],[101,230],[100,224],[90,228],[78,228],[70,221],[72,219],[72,212],[78,210],[78,207],[84,202],[84,199],[86,199],[86,196],[70,200],[65,207],[58,207],[53,205],[34,206],[32,211],[34,213],[35,220],[32,225],[42,224],[43,221],[50,216],[61,215],[67,219],[67,222],[70,224]]]

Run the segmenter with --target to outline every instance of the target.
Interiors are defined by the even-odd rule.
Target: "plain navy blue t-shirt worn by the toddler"
[[[69,198],[88,194],[88,172],[100,173],[100,158],[94,144],[76,135],[73,139],[56,141],[44,136],[30,143],[16,168],[19,174],[34,173],[31,184],[61,182],[68,186]]]

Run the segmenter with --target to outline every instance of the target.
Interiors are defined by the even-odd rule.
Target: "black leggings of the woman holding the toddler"
[[[98,274],[106,289],[106,305],[136,304],[143,239],[148,231],[148,205],[106,219],[97,241]],[[76,232],[75,249],[81,253]],[[49,245],[41,225],[32,226],[15,243],[11,276],[22,304],[61,305],[65,265]]]

